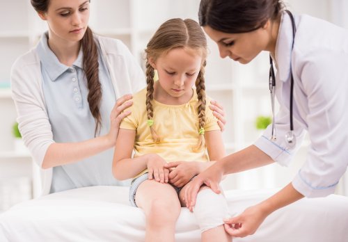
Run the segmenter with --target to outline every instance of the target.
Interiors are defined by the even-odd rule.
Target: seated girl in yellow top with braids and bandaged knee
[[[221,159],[225,150],[205,96],[207,40],[198,23],[164,22],[145,52],[148,86],[134,95],[132,113],[120,124],[113,175],[121,180],[135,177],[130,202],[145,212],[145,241],[175,241],[175,223],[191,179],[213,163],[207,161]],[[173,161],[178,162],[168,166]],[[223,195],[203,187],[197,204],[202,241],[230,241],[223,229],[228,214]]]

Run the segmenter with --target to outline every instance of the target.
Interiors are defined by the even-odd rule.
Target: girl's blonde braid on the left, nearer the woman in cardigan
[[[153,108],[152,108],[152,99],[153,99],[153,92],[154,92],[154,76],[155,76],[155,70],[153,69],[153,67],[150,65],[150,63],[148,63],[148,61],[146,61],[146,83],[147,83],[147,87],[146,87],[146,111],[148,111],[148,125],[150,126],[150,131],[151,131],[151,136],[152,136],[152,140],[155,143],[159,143],[159,136],[157,135],[154,127],[153,127]]]

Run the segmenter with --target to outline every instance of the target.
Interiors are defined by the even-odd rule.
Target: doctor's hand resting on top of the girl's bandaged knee
[[[223,167],[221,166],[219,161],[216,161],[214,165],[210,166],[209,168],[207,168],[207,170],[204,170],[200,173],[200,175],[195,177],[185,193],[184,200],[189,210],[193,211],[193,207],[196,204],[197,193],[200,186],[202,186],[203,184],[209,186],[209,188],[212,188],[212,191],[214,191],[214,193],[221,193],[219,184],[222,178]]]

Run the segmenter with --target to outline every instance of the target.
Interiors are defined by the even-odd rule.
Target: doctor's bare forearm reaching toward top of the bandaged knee
[[[270,156],[262,152],[255,145],[251,145],[244,150],[225,156],[216,162],[216,166],[221,166],[223,175],[228,175],[230,173],[266,166],[273,162]]]

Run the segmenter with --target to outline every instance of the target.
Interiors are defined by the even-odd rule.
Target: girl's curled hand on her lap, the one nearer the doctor
[[[175,161],[167,163],[165,168],[169,172],[169,182],[177,187],[182,187],[199,173],[200,163],[197,161]]]

